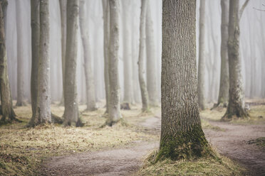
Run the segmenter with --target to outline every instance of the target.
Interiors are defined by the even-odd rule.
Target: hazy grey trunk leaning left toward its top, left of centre
[[[84,51],[86,105],[88,111],[95,111],[95,84],[92,74],[91,48],[87,31],[88,26],[85,22],[85,0],[80,0],[79,15],[80,31]]]

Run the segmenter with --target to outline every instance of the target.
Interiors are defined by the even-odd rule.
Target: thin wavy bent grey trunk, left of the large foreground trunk
[[[145,56],[145,19],[147,10],[147,0],[142,0],[141,14],[140,14],[140,48],[139,48],[139,59],[138,59],[138,76],[139,84],[142,97],[142,111],[148,111],[149,101],[147,87],[145,83],[145,67],[144,67],[144,56]]]

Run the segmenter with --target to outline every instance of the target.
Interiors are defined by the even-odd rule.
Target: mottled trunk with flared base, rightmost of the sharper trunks
[[[234,0],[229,4],[229,104],[223,120],[232,119],[233,116],[239,118],[248,116],[244,109],[244,88],[239,60],[239,33],[239,0]]]

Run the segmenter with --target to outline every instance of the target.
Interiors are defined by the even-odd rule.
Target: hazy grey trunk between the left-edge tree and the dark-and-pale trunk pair
[[[22,29],[21,1],[16,1],[16,31],[17,31],[17,99],[16,106],[24,106],[24,33]]]

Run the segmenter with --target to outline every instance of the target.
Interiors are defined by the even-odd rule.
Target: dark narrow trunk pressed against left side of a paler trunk
[[[36,116],[38,97],[38,57],[40,43],[40,10],[39,0],[31,0],[31,109]]]

